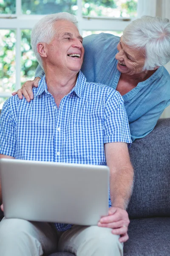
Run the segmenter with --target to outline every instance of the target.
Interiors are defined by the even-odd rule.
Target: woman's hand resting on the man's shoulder
[[[32,92],[33,87],[38,87],[38,82],[40,81],[40,77],[36,77],[33,81],[26,81],[25,84],[21,87],[21,89],[17,90],[17,92],[12,93],[12,95],[18,94],[19,99],[23,99],[23,96],[26,98],[28,102],[31,99],[34,99],[34,94]]]

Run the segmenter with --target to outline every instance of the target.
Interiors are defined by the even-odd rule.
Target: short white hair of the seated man
[[[40,57],[40,54],[37,52],[37,44],[40,42],[50,44],[50,42],[54,38],[54,35],[56,34],[56,30],[54,29],[54,23],[57,20],[71,21],[78,28],[78,22],[76,17],[68,12],[59,12],[47,15],[37,22],[37,24],[32,29],[31,33],[31,47],[41,67],[42,58]]]

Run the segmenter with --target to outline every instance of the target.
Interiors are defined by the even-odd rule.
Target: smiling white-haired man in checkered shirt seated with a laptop
[[[45,76],[33,90],[33,101],[14,96],[4,104],[0,157],[107,164],[108,216],[91,227],[3,218],[3,256],[40,256],[55,250],[77,256],[123,255],[129,224],[126,207],[133,184],[127,115],[116,90],[86,82],[79,71],[84,48],[76,25],[74,16],[59,13],[44,17],[34,27],[31,45]]]

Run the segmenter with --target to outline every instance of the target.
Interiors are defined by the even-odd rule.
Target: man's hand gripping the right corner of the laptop
[[[99,227],[110,227],[114,235],[120,235],[119,241],[126,242],[129,239],[127,230],[130,220],[127,211],[119,207],[109,208],[108,216],[102,217],[98,222]]]

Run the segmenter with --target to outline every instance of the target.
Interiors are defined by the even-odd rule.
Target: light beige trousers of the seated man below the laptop
[[[76,256],[123,256],[123,244],[110,228],[74,225],[58,232],[45,222],[14,218],[0,222],[0,255],[45,256],[56,250]]]

